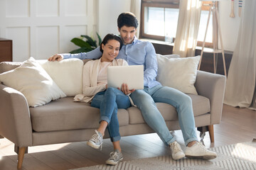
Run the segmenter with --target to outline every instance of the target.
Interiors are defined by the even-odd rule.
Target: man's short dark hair
[[[122,26],[137,28],[138,25],[139,25],[138,20],[133,13],[130,13],[130,12],[121,13],[117,18],[117,26],[119,29],[122,28]]]

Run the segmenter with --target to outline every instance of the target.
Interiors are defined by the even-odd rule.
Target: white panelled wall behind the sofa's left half
[[[47,59],[78,47],[70,40],[95,36],[95,0],[0,0],[0,37],[13,40],[13,61]]]

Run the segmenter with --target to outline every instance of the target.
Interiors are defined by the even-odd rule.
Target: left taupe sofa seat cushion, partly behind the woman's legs
[[[93,108],[89,103],[74,102],[73,97],[60,98],[45,106],[29,108],[32,128],[36,132],[56,130],[78,130],[98,128],[100,109]],[[119,125],[128,125],[129,116],[125,109],[117,113]]]

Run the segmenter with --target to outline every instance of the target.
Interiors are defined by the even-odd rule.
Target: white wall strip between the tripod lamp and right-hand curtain
[[[220,29],[224,50],[234,51],[238,39],[240,17],[238,16],[238,0],[234,0],[235,18],[230,18],[231,1],[219,2]],[[219,43],[220,44],[220,43]]]

